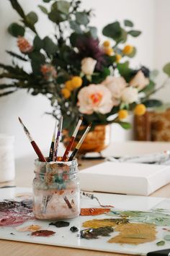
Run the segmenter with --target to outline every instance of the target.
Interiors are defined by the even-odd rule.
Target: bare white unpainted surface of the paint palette
[[[12,199],[18,193],[31,192],[28,188],[7,188],[0,189],[0,200]],[[128,195],[113,195],[104,193],[94,193],[100,202],[105,205],[115,205],[116,209],[119,210],[151,210],[151,208],[165,208],[170,210],[170,199],[159,198],[159,197],[139,197],[139,196],[128,196]],[[81,199],[81,208],[99,208],[96,200],[91,200],[89,198]],[[55,226],[49,226],[50,221],[27,221],[24,222],[19,227],[29,226],[31,224],[40,225],[42,229],[48,229],[55,231],[54,236],[50,237],[37,237],[30,236],[30,232],[19,232],[14,227],[1,227],[0,228],[0,239],[14,240],[19,242],[30,242],[37,244],[50,244],[53,246],[61,247],[74,247],[79,249],[90,249],[98,250],[104,252],[118,252],[127,253],[133,255],[146,255],[148,252],[156,251],[158,249],[169,249],[170,242],[166,242],[164,246],[158,247],[156,242],[163,239],[166,234],[162,227],[157,228],[157,238],[154,242],[149,242],[139,245],[130,244],[109,244],[107,241],[109,238],[116,236],[117,232],[111,233],[110,237],[100,236],[99,239],[82,239],[77,236],[78,233],[72,233],[70,231],[71,226],[76,226],[79,230],[84,229],[81,224],[84,221],[89,221],[91,219],[101,219],[101,218],[112,218],[110,216],[100,215],[100,216],[79,216],[71,220],[70,226],[63,228],[56,228]],[[13,234],[10,234],[13,233]]]

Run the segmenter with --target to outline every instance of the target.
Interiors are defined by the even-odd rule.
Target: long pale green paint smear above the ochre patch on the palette
[[[167,213],[167,211],[166,211]],[[170,215],[164,209],[151,211],[139,210],[111,210],[107,215],[128,218],[130,222],[150,223],[156,226],[170,226]]]

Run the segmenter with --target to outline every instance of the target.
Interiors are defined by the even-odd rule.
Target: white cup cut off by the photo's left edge
[[[0,134],[0,182],[9,182],[14,177],[14,136]]]

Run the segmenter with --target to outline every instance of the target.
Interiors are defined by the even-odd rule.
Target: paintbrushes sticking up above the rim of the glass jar
[[[89,126],[86,128],[84,134],[82,135],[81,139],[77,143],[76,148],[73,149],[73,142],[75,141],[76,135],[79,132],[79,128],[81,127],[82,120],[83,120],[83,118],[81,117],[81,119],[79,119],[79,121],[76,125],[76,128],[73,131],[73,135],[70,138],[70,141],[68,143],[68,146],[66,147],[65,153],[63,154],[63,157],[58,157],[58,145],[59,145],[59,142],[61,140],[61,132],[62,132],[62,126],[63,126],[63,116],[61,116],[61,119],[59,120],[59,123],[58,123],[57,135],[56,135],[57,122],[55,121],[53,137],[52,137],[52,141],[51,141],[51,144],[50,144],[50,153],[49,153],[48,158],[45,158],[42,155],[42,152],[41,152],[40,148],[37,146],[35,140],[32,139],[32,136],[30,135],[30,132],[24,126],[22,120],[19,118],[19,121],[22,124],[22,127],[24,128],[24,132],[26,133],[28,139],[30,140],[30,142],[32,144],[32,147],[34,148],[35,153],[37,153],[39,161],[41,161],[41,162],[72,161],[73,158],[76,157],[76,154],[79,151],[79,148],[81,147],[82,143],[84,142],[84,139],[85,139],[86,135],[88,134],[89,130],[91,129],[91,124],[89,124]],[[71,153],[71,151],[72,151],[72,153]]]

